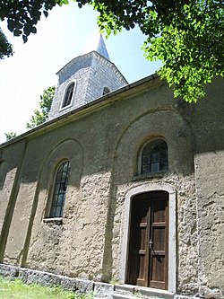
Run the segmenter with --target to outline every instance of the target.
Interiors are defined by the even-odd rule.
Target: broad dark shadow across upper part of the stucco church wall
[[[194,154],[224,150],[222,137],[224,135],[222,115],[224,101],[220,96],[224,94],[223,79],[216,78],[212,84],[208,84],[206,98],[196,104],[188,104],[181,100],[172,100],[170,103],[170,92],[167,93],[168,88],[164,87],[159,97],[165,99],[167,96],[168,98],[164,101],[161,99],[159,102],[151,99],[153,91],[147,93],[144,97],[146,101],[149,101],[149,107],[144,103],[145,99],[138,98],[137,100],[142,99],[139,102],[145,109],[143,114],[142,108],[138,111],[130,107],[136,102],[132,99],[129,105],[129,99],[127,103],[116,101],[113,107],[108,106],[108,109],[99,110],[90,117],[79,119],[75,123],[49,130],[41,136],[30,139],[26,147],[23,139],[3,146],[2,162],[0,162],[0,189],[4,186],[5,171],[9,172],[16,165],[20,165],[24,153],[19,175],[20,181],[35,182],[44,175],[45,179],[41,183],[43,188],[47,188],[49,171],[56,167],[48,163],[50,155],[54,153],[58,159],[60,157],[68,160],[72,158],[76,161],[84,159],[82,160],[84,175],[112,171],[113,159],[116,157],[116,161],[121,162],[118,171],[125,172],[125,177],[121,173],[117,179],[122,180],[128,177],[130,180],[136,174],[137,152],[142,143],[152,136],[165,138],[168,144],[170,171],[183,175],[190,174],[194,171]],[[153,107],[155,105],[157,106]],[[131,117],[128,119],[130,114]],[[78,147],[69,144],[68,138],[73,140],[73,136],[77,136],[75,142],[79,144]],[[65,144],[63,150],[60,149],[62,144]],[[81,152],[82,158],[79,154]],[[47,166],[44,163],[48,163]],[[47,171],[43,171],[40,176],[42,167],[45,167]],[[79,163],[75,163],[75,171],[78,171],[80,167]],[[77,181],[73,180],[73,183],[75,187]]]

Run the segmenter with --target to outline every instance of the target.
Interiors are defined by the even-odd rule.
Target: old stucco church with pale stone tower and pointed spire
[[[196,104],[128,84],[101,36],[57,75],[47,122],[0,145],[0,274],[223,299],[223,78]]]

